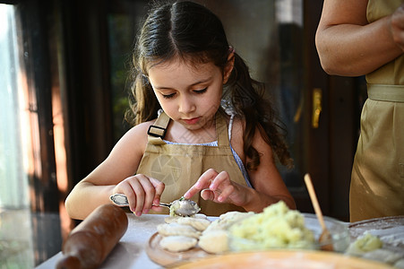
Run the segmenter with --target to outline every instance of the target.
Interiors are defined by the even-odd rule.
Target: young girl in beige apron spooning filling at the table
[[[192,2],[156,7],[133,56],[135,126],[73,188],[67,212],[83,219],[116,193],[137,216],[167,213],[155,204],[183,195],[207,215],[295,208],[273,153],[292,161],[263,95],[216,15]]]

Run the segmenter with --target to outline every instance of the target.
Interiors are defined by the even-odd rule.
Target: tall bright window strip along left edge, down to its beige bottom
[[[22,134],[17,30],[13,5],[0,4],[0,267],[33,268],[26,154]]]

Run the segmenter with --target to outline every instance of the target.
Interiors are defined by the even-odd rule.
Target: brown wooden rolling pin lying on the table
[[[122,238],[128,226],[125,211],[103,204],[74,228],[62,247],[57,269],[97,268]]]

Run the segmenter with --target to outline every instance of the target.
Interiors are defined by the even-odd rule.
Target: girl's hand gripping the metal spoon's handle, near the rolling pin
[[[116,185],[112,195],[126,195],[130,210],[136,216],[141,216],[142,213],[149,213],[150,209],[161,210],[159,206],[153,206],[153,204],[159,204],[164,187],[164,183],[159,180],[138,174],[125,178]]]

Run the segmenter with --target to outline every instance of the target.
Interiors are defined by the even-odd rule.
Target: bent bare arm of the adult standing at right
[[[391,15],[368,23],[366,8],[367,0],[324,0],[315,44],[328,74],[368,74],[402,54]]]

